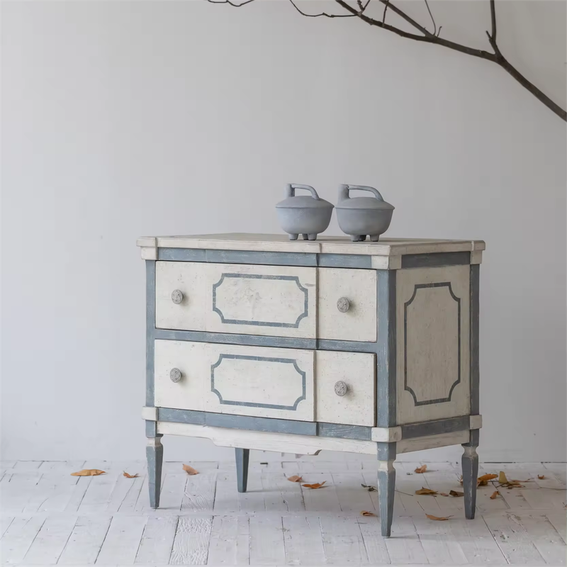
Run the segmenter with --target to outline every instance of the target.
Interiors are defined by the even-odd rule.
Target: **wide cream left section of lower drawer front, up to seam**
[[[155,342],[159,407],[313,421],[315,353],[229,344]],[[172,369],[181,371],[173,382]]]

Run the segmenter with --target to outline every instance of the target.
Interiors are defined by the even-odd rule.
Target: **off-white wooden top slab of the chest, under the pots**
[[[311,252],[313,254],[364,254],[400,256],[434,252],[474,252],[485,249],[483,240],[436,240],[426,238],[383,238],[380,242],[351,242],[344,236],[319,236],[318,240],[288,240],[287,235],[232,232],[218,235],[145,236],[140,247],[198,248],[259,252]]]

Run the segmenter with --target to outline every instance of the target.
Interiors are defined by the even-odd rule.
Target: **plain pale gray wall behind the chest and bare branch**
[[[2,458],[141,459],[135,237],[279,232],[291,181],[377,186],[392,237],[486,240],[481,458],[566,459],[567,126],[502,69],[286,0],[0,4]],[[488,0],[430,5],[488,49]],[[566,3],[497,5],[503,52],[567,105]]]

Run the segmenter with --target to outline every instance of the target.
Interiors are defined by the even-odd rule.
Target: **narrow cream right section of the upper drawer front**
[[[320,339],[376,342],[375,270],[318,268],[318,287]]]

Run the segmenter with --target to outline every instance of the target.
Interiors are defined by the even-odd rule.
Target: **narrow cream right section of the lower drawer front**
[[[315,361],[316,421],[374,427],[376,355],[318,350]],[[342,396],[335,392],[339,381],[347,386],[347,393]]]

